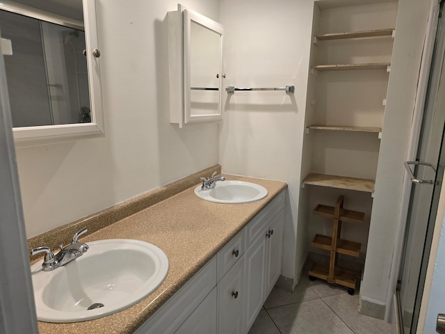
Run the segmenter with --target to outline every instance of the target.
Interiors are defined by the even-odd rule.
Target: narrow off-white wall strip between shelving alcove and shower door
[[[386,303],[391,265],[396,265],[392,264],[392,255],[401,209],[403,161],[409,142],[428,10],[429,3],[423,1],[398,3],[368,250],[360,288],[362,300],[380,305]]]

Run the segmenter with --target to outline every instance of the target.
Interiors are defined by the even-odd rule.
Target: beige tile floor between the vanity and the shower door
[[[301,279],[295,292],[274,287],[249,334],[396,334],[396,325],[360,315],[358,291]]]

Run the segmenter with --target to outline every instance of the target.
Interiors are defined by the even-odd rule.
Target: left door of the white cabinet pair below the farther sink
[[[252,326],[264,303],[266,232],[245,252],[245,332]]]

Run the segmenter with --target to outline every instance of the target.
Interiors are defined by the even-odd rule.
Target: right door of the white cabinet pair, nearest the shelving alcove
[[[277,215],[275,221],[270,225],[270,238],[267,239],[267,278],[266,278],[266,295],[270,293],[273,285],[277,282],[281,273],[281,261],[283,255],[283,227],[284,227],[284,212],[281,211]]]

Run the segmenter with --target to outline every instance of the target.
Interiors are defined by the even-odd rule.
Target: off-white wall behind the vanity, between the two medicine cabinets
[[[218,21],[218,0],[184,0]],[[169,122],[173,0],[97,0],[104,138],[17,149],[27,237],[218,163],[218,125]]]

